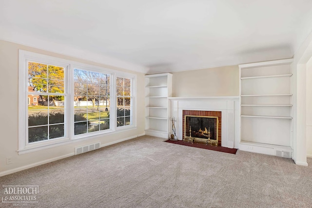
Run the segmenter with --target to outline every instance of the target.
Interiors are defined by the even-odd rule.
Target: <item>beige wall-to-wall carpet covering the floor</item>
[[[27,207],[40,208],[312,207],[312,167],[163,140],[138,137],[0,177],[0,185],[38,185],[39,202]]]

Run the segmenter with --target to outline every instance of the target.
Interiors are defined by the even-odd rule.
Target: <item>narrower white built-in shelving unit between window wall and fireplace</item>
[[[145,134],[168,138],[168,97],[172,96],[172,74],[145,76]]]

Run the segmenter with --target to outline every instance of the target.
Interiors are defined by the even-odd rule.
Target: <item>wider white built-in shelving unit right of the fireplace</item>
[[[241,64],[240,149],[292,157],[292,59]]]

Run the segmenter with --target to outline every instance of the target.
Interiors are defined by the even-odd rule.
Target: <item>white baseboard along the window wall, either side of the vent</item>
[[[109,142],[109,143],[103,144],[100,147],[109,146],[109,145],[112,145],[112,144],[116,144],[116,143],[119,143],[119,142],[123,142],[123,141],[129,140],[129,139],[137,138],[139,136],[144,136],[144,135],[145,135],[145,133],[141,133],[141,134],[138,134],[138,135],[135,135],[135,136],[127,137],[125,139],[120,139],[120,140],[117,140],[117,141],[114,141],[114,142]],[[5,170],[5,171],[0,172],[0,177],[4,176],[4,175],[11,174],[11,173],[14,173],[14,172],[18,172],[18,171],[21,171],[21,170],[26,170],[26,169],[30,169],[30,168],[33,168],[33,167],[36,167],[36,166],[39,166],[39,165],[50,163],[50,162],[53,162],[53,161],[56,161],[56,160],[60,160],[60,159],[66,158],[66,157],[74,156],[74,155],[75,155],[75,152],[73,151],[72,153],[65,154],[65,155],[62,155],[62,156],[59,156],[59,157],[54,157],[54,158],[51,158],[51,159],[43,160],[43,161],[40,161],[40,162],[37,162],[37,163],[32,163],[32,164],[29,164],[29,165],[26,165],[26,166],[22,166],[22,167],[19,167],[19,168],[14,168],[14,169],[11,169],[11,170]]]

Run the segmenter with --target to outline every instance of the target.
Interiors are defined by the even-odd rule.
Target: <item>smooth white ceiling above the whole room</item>
[[[0,0],[0,39],[143,73],[290,58],[312,0]]]

